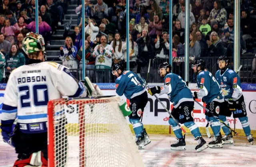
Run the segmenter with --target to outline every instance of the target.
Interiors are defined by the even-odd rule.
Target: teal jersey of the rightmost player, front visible
[[[226,101],[230,98],[239,99],[242,96],[240,78],[233,70],[227,68],[222,75],[220,70],[218,70],[215,78],[222,88]]]

